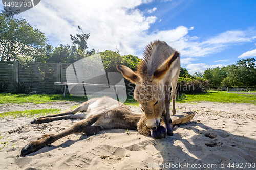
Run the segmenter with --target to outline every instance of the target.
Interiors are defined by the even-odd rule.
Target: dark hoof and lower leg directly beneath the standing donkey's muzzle
[[[156,139],[161,139],[161,138],[165,138],[166,134],[167,134],[167,127],[165,124],[165,115],[163,115],[161,116],[160,126],[158,126],[158,128],[155,131],[151,130],[151,136]]]

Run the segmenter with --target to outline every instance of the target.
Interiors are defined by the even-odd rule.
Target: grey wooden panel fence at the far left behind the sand
[[[0,83],[22,82],[28,92],[55,93],[54,82],[66,82],[66,68],[69,63],[0,62]],[[58,87],[60,88],[60,87]]]

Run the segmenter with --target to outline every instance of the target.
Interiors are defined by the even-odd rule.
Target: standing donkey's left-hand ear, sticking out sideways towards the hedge
[[[137,76],[130,68],[124,65],[117,65],[116,69],[122,72],[123,77],[130,80],[134,84],[138,84],[140,77]]]

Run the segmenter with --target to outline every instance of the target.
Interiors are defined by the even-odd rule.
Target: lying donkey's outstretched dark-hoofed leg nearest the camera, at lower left
[[[55,142],[56,140],[58,140],[62,137],[68,136],[70,134],[85,132],[86,129],[90,125],[95,123],[100,116],[101,116],[100,114],[90,116],[85,120],[75,123],[72,127],[70,127],[69,129],[66,129],[60,133],[53,134],[53,135],[45,135],[45,136],[43,136],[43,138],[41,138],[37,141],[31,141],[29,144],[27,144],[25,147],[23,147],[21,155],[28,155],[32,152],[36,152],[39,149],[45,147],[46,145],[51,144],[51,143]]]

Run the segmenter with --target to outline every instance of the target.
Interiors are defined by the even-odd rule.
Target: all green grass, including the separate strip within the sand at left
[[[40,95],[28,95],[28,94],[0,94],[0,107],[4,106],[3,104],[7,103],[47,103],[47,102],[56,102],[60,100],[65,101],[87,101],[83,97],[75,97],[71,95],[66,95],[65,98],[61,94],[40,94]],[[209,101],[209,102],[224,102],[224,103],[252,103],[256,105],[256,95],[253,94],[237,94],[237,93],[228,93],[224,92],[205,92],[199,94],[182,94],[177,95],[177,102],[200,102],[200,101]],[[124,102],[125,105],[138,106],[138,102],[134,99],[128,99]],[[72,107],[73,109],[77,107]],[[25,111],[12,111],[0,113],[0,117],[12,116],[16,117],[39,117],[45,116],[48,114],[57,114],[60,112],[60,109],[37,109],[37,110],[25,110]]]

